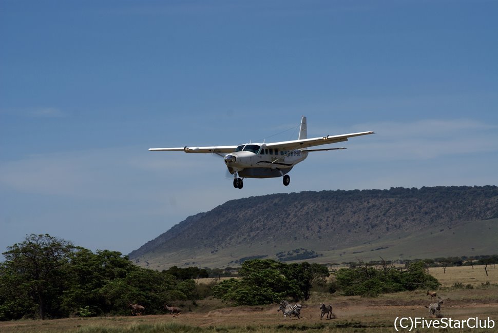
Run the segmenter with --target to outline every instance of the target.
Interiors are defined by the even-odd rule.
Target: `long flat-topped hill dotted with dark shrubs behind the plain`
[[[307,191],[232,200],[132,251],[138,265],[340,263],[498,252],[498,187]]]

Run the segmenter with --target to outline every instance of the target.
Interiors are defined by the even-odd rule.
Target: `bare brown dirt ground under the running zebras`
[[[443,297],[442,315],[451,319],[467,319],[478,317],[490,318],[498,325],[498,288],[456,289],[453,291],[438,290]],[[0,322],[2,333],[24,332],[76,332],[87,326],[129,327],[133,324],[174,322],[197,327],[277,327],[295,324],[327,323],[331,327],[351,325],[367,329],[393,328],[396,317],[424,317],[429,319],[425,305],[431,303],[430,296],[425,292],[401,292],[380,296],[378,298],[361,298],[330,296],[322,300],[332,304],[334,319],[320,319],[320,302],[317,299],[322,294],[316,294],[311,302],[301,303],[301,319],[292,318],[284,321],[277,305],[269,306],[238,306],[220,307],[214,310],[215,303],[203,304],[194,311],[184,311],[178,317],[171,315],[137,316],[137,317],[107,317],[107,318],[70,318],[45,321],[13,321]],[[218,302],[218,301],[205,301]],[[217,306],[223,306],[218,303]],[[206,310],[203,310],[206,309]],[[253,330],[253,328],[251,329]],[[271,329],[270,329],[271,331]],[[330,331],[330,330],[324,330]],[[377,331],[377,330],[375,330]],[[491,330],[493,331],[493,330]]]

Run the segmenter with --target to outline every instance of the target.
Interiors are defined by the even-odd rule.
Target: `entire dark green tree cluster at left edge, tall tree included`
[[[120,252],[96,253],[45,235],[26,238],[0,263],[0,320],[129,315],[129,303],[158,314],[172,300],[196,300],[194,280],[133,265]]]

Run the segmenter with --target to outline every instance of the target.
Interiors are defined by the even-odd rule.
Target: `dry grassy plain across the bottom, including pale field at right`
[[[470,268],[470,271],[469,271]],[[451,267],[446,274],[441,268],[430,268],[443,283],[437,290],[444,299],[442,314],[451,319],[478,317],[496,321],[494,329],[448,329],[444,331],[494,332],[498,330],[498,269],[488,267],[488,279],[482,266]],[[489,281],[489,285],[486,284]],[[454,287],[454,284],[462,284]],[[472,288],[466,287],[467,284]],[[484,285],[483,285],[484,284]],[[334,319],[321,320],[321,302],[333,305]],[[309,301],[302,303],[302,318],[285,320],[276,305],[231,307],[218,300],[199,301],[199,306],[184,311],[180,316],[138,316],[112,318],[70,318],[45,321],[0,322],[2,333],[120,333],[120,332],[385,332],[395,331],[396,317],[424,317],[429,319],[425,305],[431,303],[425,290],[399,292],[377,298],[346,297],[313,292]],[[441,329],[423,328],[419,332]],[[416,331],[416,330],[414,330]]]

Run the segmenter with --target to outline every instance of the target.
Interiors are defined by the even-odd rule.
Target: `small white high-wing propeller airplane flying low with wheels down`
[[[348,141],[353,136],[374,134],[359,132],[327,135],[307,139],[306,117],[302,116],[297,140],[273,143],[246,143],[238,146],[150,148],[151,151],[184,151],[187,153],[210,153],[223,157],[228,171],[234,175],[234,187],[242,188],[244,178],[283,177],[287,186],[291,178],[287,174],[299,162],[308,157],[310,151],[337,150],[346,148],[308,149],[308,147]]]

